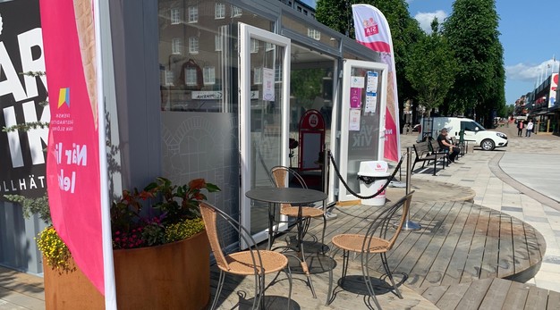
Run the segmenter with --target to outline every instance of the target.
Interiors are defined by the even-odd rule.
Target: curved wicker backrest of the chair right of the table
[[[406,222],[413,193],[414,191],[410,192],[408,195],[399,199],[394,205],[387,207],[378,214],[376,219],[369,225],[368,232],[366,233],[369,238],[364,240],[362,250],[369,248],[371,237],[386,239],[388,242],[387,249],[391,249],[395,245],[396,239],[399,237],[401,230],[403,230],[404,222]],[[399,211],[401,211],[401,213],[399,213]],[[393,227],[395,227],[395,229],[393,229]]]

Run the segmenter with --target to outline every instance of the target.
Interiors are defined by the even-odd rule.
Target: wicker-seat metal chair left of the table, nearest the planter
[[[216,264],[220,270],[220,276],[216,288],[216,296],[212,302],[210,309],[216,309],[217,300],[220,297],[222,288],[224,287],[225,273],[233,273],[237,275],[253,275],[255,277],[255,297],[253,298],[252,309],[260,307],[265,308],[265,275],[273,272],[284,271],[289,281],[288,291],[288,309],[292,300],[292,272],[288,265],[288,258],[281,253],[260,250],[256,246],[256,242],[252,239],[250,231],[242,227],[242,225],[233,220],[231,216],[217,209],[213,205],[201,202],[200,214],[204,220],[204,226],[208,234],[208,240],[212,253],[216,258]],[[229,224],[229,225],[225,225]],[[235,252],[225,255],[222,251],[224,245],[220,242],[220,234],[218,231],[225,227],[231,227],[236,230],[240,238],[248,245],[249,249],[241,252]],[[224,232],[225,234],[227,232]],[[231,230],[229,231],[231,235]],[[276,275],[277,276],[277,275]],[[276,279],[276,278],[275,278]]]

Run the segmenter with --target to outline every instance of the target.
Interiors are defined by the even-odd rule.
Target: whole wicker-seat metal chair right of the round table
[[[370,277],[370,266],[371,256],[379,254],[381,256],[381,263],[386,272],[386,277],[391,281],[393,289],[395,289],[395,294],[403,299],[401,292],[395,285],[395,280],[393,279],[393,273],[387,264],[386,252],[388,252],[394,245],[397,237],[399,236],[401,230],[403,230],[404,222],[406,221],[406,216],[408,214],[411,201],[412,201],[413,191],[402,197],[394,205],[391,205],[384,209],[376,219],[369,224],[369,228],[365,234],[340,234],[333,237],[333,245],[337,247],[337,250],[333,254],[333,259],[336,252],[340,249],[343,250],[343,272],[340,278],[340,285],[344,284],[344,278],[348,272],[348,260],[350,252],[361,254],[361,271],[363,275],[363,280],[369,292],[369,297],[374,300],[378,309],[379,306],[378,298],[375,295],[374,285],[371,282]],[[393,228],[395,225],[395,229]],[[327,305],[332,302],[331,297],[333,289],[333,271],[332,268],[329,272],[329,283],[328,283],[328,293],[327,293]],[[372,308],[371,305],[368,305]]]

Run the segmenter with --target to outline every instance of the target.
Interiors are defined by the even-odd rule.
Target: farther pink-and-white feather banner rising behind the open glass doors
[[[399,136],[399,105],[396,89],[395,56],[391,30],[385,16],[369,4],[352,4],[356,41],[379,52],[389,67],[387,76],[387,105],[385,121],[385,154],[387,160],[398,162],[401,157]]]

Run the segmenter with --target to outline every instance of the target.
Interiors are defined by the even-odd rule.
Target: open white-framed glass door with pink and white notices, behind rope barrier
[[[360,163],[383,160],[387,68],[385,63],[344,60],[338,165],[349,189],[356,193],[360,193]],[[358,199],[341,180],[338,189],[339,201]]]

